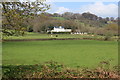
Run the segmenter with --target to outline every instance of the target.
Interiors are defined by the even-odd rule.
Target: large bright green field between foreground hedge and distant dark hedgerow
[[[49,40],[3,42],[3,65],[38,64],[57,61],[68,67],[98,66],[100,61],[118,63],[116,41]]]

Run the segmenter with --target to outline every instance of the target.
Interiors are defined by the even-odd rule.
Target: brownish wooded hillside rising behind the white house
[[[43,13],[33,20],[36,22],[33,23],[33,25],[35,25],[33,26],[33,32],[45,33],[47,30],[53,29],[54,26],[63,26],[64,28],[72,29],[72,32],[87,32],[89,34],[98,35],[118,35],[117,18],[108,18],[109,17],[98,17],[91,13]]]

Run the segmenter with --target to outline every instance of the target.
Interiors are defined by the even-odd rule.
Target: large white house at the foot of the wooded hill
[[[65,29],[62,26],[56,26],[53,28],[53,30],[47,30],[47,33],[71,33],[71,29]]]

